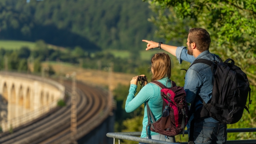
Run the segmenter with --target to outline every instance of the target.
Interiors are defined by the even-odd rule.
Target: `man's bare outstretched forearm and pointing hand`
[[[150,49],[154,49],[154,48],[158,47],[158,42],[153,42],[153,41],[149,41],[149,40],[142,40],[142,41],[148,43],[146,50],[150,50]],[[171,46],[171,45],[161,44],[161,48],[176,57],[176,49],[177,49],[177,47]]]

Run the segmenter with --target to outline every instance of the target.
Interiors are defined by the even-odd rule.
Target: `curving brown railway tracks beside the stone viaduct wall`
[[[71,82],[64,83],[66,92],[71,93]],[[77,129],[97,121],[97,117],[108,104],[107,92],[77,82]],[[28,126],[20,127],[13,134],[0,135],[1,144],[50,144],[70,135],[71,99],[66,106],[52,111]]]

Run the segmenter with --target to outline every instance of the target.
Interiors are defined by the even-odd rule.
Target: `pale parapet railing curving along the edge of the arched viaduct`
[[[56,87],[61,92],[60,99],[64,99],[65,87],[54,80],[47,79],[45,77],[39,77],[37,75],[22,74],[22,73],[18,73],[18,72],[8,72],[8,71],[0,71],[0,75],[8,75],[8,76],[12,76],[12,77],[22,77],[25,79],[30,79],[30,80],[32,79],[32,80],[36,80],[36,81],[40,81],[40,82],[52,85],[53,87]],[[29,111],[22,116],[14,117],[7,121],[1,121],[0,126],[2,127],[2,131],[8,131],[8,130],[18,127],[22,124],[25,124],[29,121],[33,121],[37,117],[42,116],[43,114],[54,109],[57,105],[58,100],[59,99],[56,99],[49,104],[39,107],[38,109]]]

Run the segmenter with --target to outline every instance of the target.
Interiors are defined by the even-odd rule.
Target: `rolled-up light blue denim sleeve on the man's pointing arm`
[[[192,63],[195,60],[193,55],[187,54],[187,47],[181,46],[176,49],[176,57],[179,60],[179,63],[182,63],[182,60]]]

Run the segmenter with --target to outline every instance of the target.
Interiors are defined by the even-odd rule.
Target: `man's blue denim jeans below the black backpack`
[[[226,144],[227,124],[218,122],[195,122],[195,144]]]

